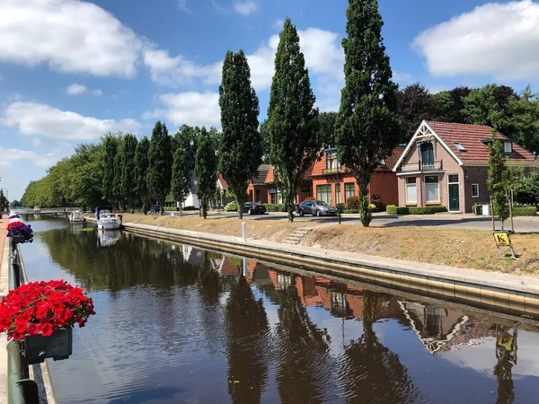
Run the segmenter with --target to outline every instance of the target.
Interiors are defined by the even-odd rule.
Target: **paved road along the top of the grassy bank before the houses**
[[[184,212],[186,216],[198,216],[198,211]],[[210,212],[211,218],[236,217],[234,212]],[[244,215],[245,220],[287,220],[287,214],[282,212],[269,212],[266,215]],[[295,222],[306,222],[309,224],[337,224],[339,218],[336,216],[316,217],[316,216],[296,216]],[[358,224],[358,215],[342,215],[342,224]],[[539,233],[539,216],[518,216],[514,218],[515,231],[521,233]],[[400,226],[425,226],[425,227],[445,227],[458,229],[492,230],[490,216],[477,216],[473,214],[449,214],[439,213],[436,215],[387,215],[385,212],[373,215],[372,225],[384,227]],[[506,221],[505,229],[511,229],[510,221]],[[496,228],[500,228],[499,222]]]

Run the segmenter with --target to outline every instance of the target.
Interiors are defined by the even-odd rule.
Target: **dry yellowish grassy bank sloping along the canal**
[[[232,218],[196,216],[171,218],[158,215],[124,215],[124,222],[161,225],[203,233],[242,235],[241,221]],[[314,227],[300,245],[343,250],[393,259],[406,259],[432,264],[499,271],[528,277],[539,277],[539,234],[515,234],[512,241],[515,261],[499,259],[489,231],[445,229],[433,227],[370,227],[360,224],[327,225],[316,222],[292,223],[285,220],[247,220],[250,238],[282,242],[297,228]],[[508,249],[504,249],[508,252]]]

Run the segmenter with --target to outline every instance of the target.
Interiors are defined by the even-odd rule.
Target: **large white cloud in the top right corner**
[[[435,76],[534,78],[539,72],[539,4],[489,3],[423,31],[413,41]]]

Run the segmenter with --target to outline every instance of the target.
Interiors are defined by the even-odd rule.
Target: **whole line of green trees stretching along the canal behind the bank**
[[[361,223],[370,224],[368,183],[393,148],[406,142],[421,119],[490,125],[535,151],[537,97],[526,88],[490,84],[482,89],[458,87],[431,95],[419,83],[399,91],[392,80],[376,0],[349,0],[344,48],[345,84],[338,112],[319,113],[296,26],[289,18],[279,33],[270,89],[268,118],[259,123],[259,101],[243,50],[226,52],[219,107],[222,132],[183,126],[169,136],[157,122],[151,140],[130,134],[107,135],[99,145],[80,145],[47,177],[31,182],[26,206],[95,206],[103,201],[132,209],[150,199],[163,204],[172,189],[175,200],[188,194],[190,173],[197,176],[197,195],[206,217],[216,193],[216,172],[238,202],[238,216],[249,181],[262,161],[274,167],[274,178],[288,219],[294,220],[296,189],[305,171],[320,158],[323,143],[338,148],[339,161],[359,188]]]

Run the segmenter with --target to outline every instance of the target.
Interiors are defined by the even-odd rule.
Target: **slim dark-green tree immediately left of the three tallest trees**
[[[208,203],[216,194],[217,189],[217,156],[216,142],[208,133],[206,127],[200,129],[195,161],[195,174],[197,175],[197,197],[202,207],[202,216],[208,215]]]

